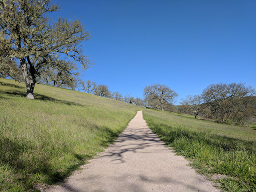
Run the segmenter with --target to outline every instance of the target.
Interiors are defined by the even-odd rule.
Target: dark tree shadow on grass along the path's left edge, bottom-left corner
[[[78,169],[80,165],[86,164],[87,160],[93,158],[98,148],[102,150],[102,147],[113,143],[120,132],[96,124],[93,124],[92,128],[97,129],[96,134],[99,134],[99,137],[102,137],[100,134],[104,135],[100,145],[95,146],[95,148],[86,153],[76,153],[70,148],[60,148],[63,156],[71,154],[73,156],[72,159],[74,159],[68,164],[63,164],[60,170],[57,170],[58,164],[51,164],[47,156],[44,155],[43,148],[51,150],[51,146],[48,147],[46,144],[43,148],[38,148],[31,140],[9,138],[4,135],[4,132],[0,132],[3,133],[0,134],[0,163],[7,165],[9,170],[15,170],[13,172],[13,175],[15,174],[13,184],[20,185],[25,190],[33,188],[33,185],[39,182],[40,178],[42,178],[41,182],[46,184],[60,183],[70,176],[74,170]],[[44,144],[42,143],[42,145]],[[30,155],[27,156],[28,153]],[[27,156],[27,158],[22,156]],[[40,178],[33,179],[35,175],[40,175]]]

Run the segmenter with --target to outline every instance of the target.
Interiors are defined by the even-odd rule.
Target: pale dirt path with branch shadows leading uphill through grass
[[[46,192],[219,191],[182,156],[164,147],[138,111],[105,152],[83,165],[65,183]]]

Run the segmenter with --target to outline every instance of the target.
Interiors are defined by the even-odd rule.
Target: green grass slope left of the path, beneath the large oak
[[[0,78],[0,191],[56,183],[112,143],[141,107]]]

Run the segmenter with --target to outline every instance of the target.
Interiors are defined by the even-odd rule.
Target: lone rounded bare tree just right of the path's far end
[[[172,104],[174,97],[178,94],[164,84],[151,84],[144,87],[143,95],[147,105],[164,110],[168,104]]]

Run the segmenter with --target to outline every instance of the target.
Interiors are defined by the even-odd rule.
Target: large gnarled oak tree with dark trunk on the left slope
[[[83,69],[90,64],[79,45],[90,38],[90,33],[78,19],[58,17],[52,21],[47,13],[59,9],[50,0],[0,0],[0,46],[5,52],[0,57],[19,61],[27,98],[34,98],[36,79],[52,59],[71,57]],[[55,66],[61,69],[66,64],[72,62],[57,62]]]

